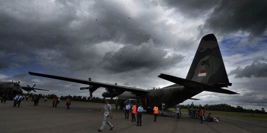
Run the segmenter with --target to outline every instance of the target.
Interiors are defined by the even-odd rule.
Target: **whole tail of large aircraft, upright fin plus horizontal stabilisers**
[[[219,44],[214,34],[202,37],[185,79],[167,74],[160,74],[158,77],[195,92],[238,94],[222,89],[222,87],[231,86],[232,83],[229,83]],[[176,84],[168,87],[177,86]]]

